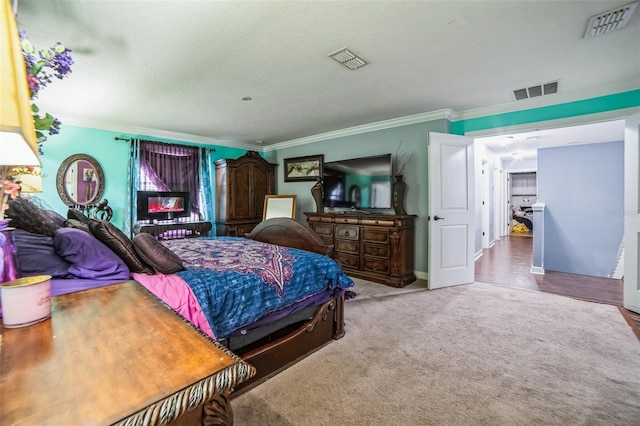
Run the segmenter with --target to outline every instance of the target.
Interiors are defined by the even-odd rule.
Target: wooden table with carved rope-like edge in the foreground
[[[255,369],[127,281],[56,296],[42,323],[0,326],[0,372],[3,426],[163,425],[202,411],[224,425],[230,391]]]

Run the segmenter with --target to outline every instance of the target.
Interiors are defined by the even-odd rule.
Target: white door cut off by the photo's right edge
[[[623,305],[640,313],[640,114],[627,117],[624,131],[624,297]]]

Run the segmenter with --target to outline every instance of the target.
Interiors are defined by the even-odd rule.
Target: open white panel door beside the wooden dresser
[[[429,132],[429,288],[473,282],[473,138]]]

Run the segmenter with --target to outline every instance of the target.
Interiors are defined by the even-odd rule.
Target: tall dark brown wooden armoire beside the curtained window
[[[256,151],[216,165],[216,234],[243,236],[262,220],[264,196],[275,194],[276,164]]]

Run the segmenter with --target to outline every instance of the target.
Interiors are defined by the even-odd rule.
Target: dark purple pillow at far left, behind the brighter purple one
[[[18,249],[18,262],[24,276],[51,275],[53,278],[73,278],[71,264],[58,255],[53,238],[22,229],[11,231]]]

